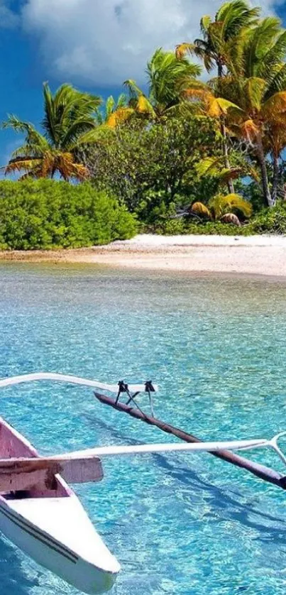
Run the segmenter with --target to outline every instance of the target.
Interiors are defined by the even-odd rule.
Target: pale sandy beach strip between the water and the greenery
[[[286,277],[286,236],[141,235],[132,240],[88,249],[2,251],[0,259]]]

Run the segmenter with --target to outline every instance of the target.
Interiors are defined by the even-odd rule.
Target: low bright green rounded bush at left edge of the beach
[[[81,248],[128,239],[136,219],[88,182],[0,182],[0,248]]]

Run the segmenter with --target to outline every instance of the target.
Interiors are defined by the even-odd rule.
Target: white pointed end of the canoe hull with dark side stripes
[[[55,511],[56,517],[51,518]],[[15,501],[0,497],[0,530],[35,562],[84,593],[108,591],[120,570],[75,494]]]

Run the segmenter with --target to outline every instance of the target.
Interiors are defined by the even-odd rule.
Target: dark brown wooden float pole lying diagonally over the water
[[[156,419],[156,417],[152,417],[150,415],[146,415],[141,410],[131,407],[130,405],[125,405],[124,403],[120,403],[119,400],[114,400],[106,395],[101,395],[99,393],[94,393],[95,397],[104,405],[109,405],[110,407],[116,409],[117,411],[121,411],[121,413],[127,413],[127,415],[131,415],[131,417],[135,417],[137,420],[141,420],[149,425],[153,425],[158,427],[159,430],[162,430],[166,434],[171,434],[184,442],[189,443],[196,443],[196,442],[203,442],[199,440],[196,436],[192,434],[188,434],[183,430],[179,430],[177,427],[174,427],[168,423],[165,423],[161,420]],[[245,457],[241,457],[234,452],[229,450],[220,450],[219,452],[210,452],[213,454],[214,457],[218,457],[227,463],[240,467],[241,469],[246,469],[251,474],[255,475],[259,479],[263,479],[263,481],[267,481],[269,484],[274,484],[283,490],[286,489],[286,476],[283,476],[278,471],[274,469],[270,469],[265,465],[260,465],[253,461],[246,459]]]

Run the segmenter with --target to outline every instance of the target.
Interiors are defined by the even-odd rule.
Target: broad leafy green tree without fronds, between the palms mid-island
[[[144,222],[155,222],[171,205],[205,200],[218,182],[199,178],[197,165],[218,154],[214,122],[192,116],[168,117],[154,126],[133,120],[84,151],[94,182],[107,187]]]

